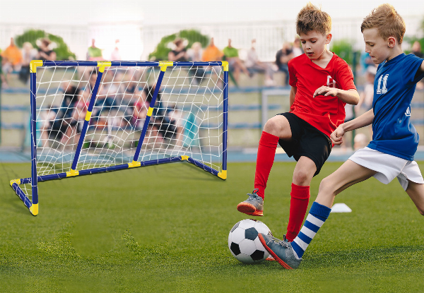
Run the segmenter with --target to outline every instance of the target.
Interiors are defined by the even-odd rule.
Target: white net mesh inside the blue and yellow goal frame
[[[158,66],[107,67],[100,79],[76,170],[130,163],[160,73]],[[69,172],[97,67],[37,68],[37,176]],[[167,67],[139,162],[187,155],[222,171],[223,69]],[[30,184],[20,188],[31,200]]]

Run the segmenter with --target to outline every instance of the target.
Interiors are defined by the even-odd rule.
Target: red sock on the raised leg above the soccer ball
[[[262,131],[259,140],[257,168],[254,174],[254,188],[259,189],[257,195],[262,199],[265,197],[266,181],[268,181],[269,172],[271,172],[273,160],[276,156],[278,140],[278,136]]]

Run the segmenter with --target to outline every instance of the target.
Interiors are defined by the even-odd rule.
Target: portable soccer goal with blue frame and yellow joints
[[[38,214],[42,181],[170,162],[227,178],[228,63],[31,61],[31,177],[12,189]]]

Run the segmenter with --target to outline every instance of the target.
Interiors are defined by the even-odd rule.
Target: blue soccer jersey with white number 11
[[[416,75],[423,59],[413,54],[400,54],[379,64],[374,80],[374,120],[372,141],[368,148],[413,160],[419,136],[411,124],[411,100],[416,83],[424,73]]]

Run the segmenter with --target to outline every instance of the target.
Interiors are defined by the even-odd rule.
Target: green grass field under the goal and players
[[[339,165],[313,179],[312,201]],[[294,166],[271,171],[260,220],[276,237]],[[424,217],[396,180],[338,195],[353,212],[331,214],[300,268],[284,270],[228,250],[231,227],[249,217],[235,206],[254,163],[230,164],[226,181],[187,163],[47,181],[37,217],[8,184],[23,177],[29,164],[0,164],[0,292],[423,292]]]

